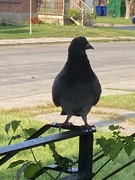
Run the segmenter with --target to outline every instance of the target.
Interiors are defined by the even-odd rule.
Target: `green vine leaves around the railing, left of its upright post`
[[[22,130],[23,135],[15,134],[17,132],[18,128],[20,128]],[[9,131],[11,131],[11,130],[13,132],[13,135],[10,137],[9,134],[11,132],[9,132]],[[31,136],[32,134],[34,134],[36,132],[36,129],[34,129],[34,128],[24,129],[21,125],[21,121],[13,120],[10,123],[6,124],[5,131],[9,137],[8,145],[10,145],[13,140],[16,140],[21,137],[23,137],[23,138],[25,137],[25,140],[26,140],[29,136]],[[57,178],[58,178],[64,170],[66,170],[68,167],[71,167],[75,163],[71,159],[61,156],[56,151],[56,147],[55,147],[54,143],[49,144],[49,148],[52,152],[52,156],[54,158],[55,164],[63,169],[57,175]],[[16,180],[19,180],[22,174],[24,175],[24,178],[33,178],[38,171],[42,170],[44,172],[44,167],[43,167],[43,164],[41,163],[41,160],[37,160],[32,149],[30,149],[30,153],[33,156],[33,161],[29,161],[28,159],[25,159],[25,160],[19,159],[17,161],[11,162],[10,165],[7,167],[8,169],[10,169],[10,168],[15,168],[15,167],[21,165],[21,167],[17,170]],[[49,173],[47,173],[47,174],[50,175]],[[57,179],[57,178],[54,178],[54,179]]]

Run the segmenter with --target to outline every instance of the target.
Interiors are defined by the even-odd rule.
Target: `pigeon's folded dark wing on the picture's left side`
[[[60,97],[60,92],[62,88],[62,78],[61,78],[61,73],[59,73],[53,83],[52,86],[52,100],[55,104],[55,106],[60,106],[59,104],[59,97]]]

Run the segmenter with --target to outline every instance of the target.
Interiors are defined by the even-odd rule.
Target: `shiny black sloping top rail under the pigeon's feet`
[[[52,127],[59,128],[59,126],[55,126],[55,125]],[[69,128],[70,128],[70,126],[65,127],[64,129],[69,129]],[[45,136],[45,137],[41,137],[41,138],[29,139],[24,142],[1,147],[0,148],[0,156],[7,155],[10,153],[14,153],[14,152],[23,151],[26,149],[34,148],[34,147],[45,145],[45,144],[49,144],[51,142],[57,142],[57,141],[73,138],[73,137],[80,136],[80,135],[83,135],[86,133],[95,132],[94,127],[93,127],[93,129],[90,129],[90,131],[86,130],[84,128],[81,129],[79,126],[73,126],[73,127],[71,127],[71,129],[72,129],[71,131],[53,134],[53,135],[49,135],[49,136]]]

